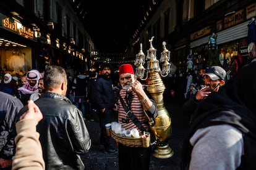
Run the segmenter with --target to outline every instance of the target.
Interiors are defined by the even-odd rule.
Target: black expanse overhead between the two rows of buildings
[[[85,28],[99,52],[124,52],[150,1],[83,1]]]

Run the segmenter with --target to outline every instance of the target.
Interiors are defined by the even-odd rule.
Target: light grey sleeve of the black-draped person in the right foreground
[[[189,169],[237,169],[244,154],[242,133],[233,126],[217,125],[198,129],[192,145]]]

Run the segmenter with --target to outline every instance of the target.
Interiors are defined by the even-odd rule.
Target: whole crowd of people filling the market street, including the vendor
[[[183,112],[190,116],[182,143],[182,169],[254,169],[256,158],[256,46],[248,46],[250,63],[226,80],[226,71],[213,65],[200,70],[191,83]],[[81,155],[91,147],[85,119],[98,114],[100,144],[116,154],[119,169],[149,169],[152,147],[117,142],[105,125],[150,131],[148,118],[158,115],[156,102],[136,79],[134,68],[123,64],[117,81],[113,67],[100,73],[49,65],[43,73],[30,70],[15,78],[3,74],[0,87],[0,169],[85,169]],[[72,76],[71,76],[72,75]],[[117,113],[117,115],[115,115]],[[218,156],[217,156],[218,155]]]

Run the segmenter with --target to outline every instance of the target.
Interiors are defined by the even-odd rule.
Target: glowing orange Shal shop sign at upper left
[[[15,20],[11,20],[11,18],[3,18],[2,26],[4,26],[4,28],[7,30],[14,31],[15,33],[25,38],[35,38],[35,32],[31,28],[28,28],[27,26],[24,26]]]

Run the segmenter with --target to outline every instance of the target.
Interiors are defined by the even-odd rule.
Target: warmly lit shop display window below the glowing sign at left
[[[32,69],[31,47],[0,38],[0,67],[11,75],[24,75]]]

